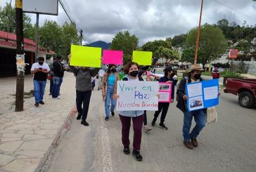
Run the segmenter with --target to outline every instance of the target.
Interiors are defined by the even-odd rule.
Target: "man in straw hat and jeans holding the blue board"
[[[192,65],[191,70],[188,70],[188,79],[182,79],[179,87],[177,88],[177,107],[184,113],[184,124],[182,129],[184,145],[190,150],[193,150],[193,147],[198,147],[198,141],[196,138],[198,137],[200,131],[202,131],[203,127],[205,127],[206,109],[188,112],[186,105],[186,100],[188,99],[188,96],[186,95],[186,84],[203,81],[201,78],[201,73],[203,71],[205,70],[203,70],[199,64]],[[196,126],[193,128],[191,133],[189,133],[193,117],[196,122]]]

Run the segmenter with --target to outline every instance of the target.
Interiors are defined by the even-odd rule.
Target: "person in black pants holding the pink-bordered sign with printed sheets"
[[[166,83],[172,83],[172,98],[170,102],[173,102],[174,99],[174,86],[176,84],[176,81],[174,81],[174,70],[172,67],[166,67],[165,70],[165,77],[161,77],[159,82],[166,82]],[[165,126],[164,121],[169,108],[169,102],[159,102],[158,103],[158,111],[155,112],[153,121],[151,122],[152,126],[155,126],[155,121],[158,119],[158,115],[162,111],[161,118],[160,118],[160,124],[158,125],[160,128],[167,130],[167,126]]]

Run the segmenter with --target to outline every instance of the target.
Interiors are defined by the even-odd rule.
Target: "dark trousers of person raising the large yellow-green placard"
[[[76,98],[76,104],[77,104],[77,112],[79,114],[82,114],[82,120],[87,119],[87,114],[89,111],[89,104],[91,100],[91,90],[90,91],[76,91],[77,92],[77,98]],[[82,107],[83,104],[83,107]]]

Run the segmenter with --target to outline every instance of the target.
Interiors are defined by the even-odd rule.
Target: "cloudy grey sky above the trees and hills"
[[[0,6],[11,0],[0,0]],[[25,0],[23,0],[25,1]],[[27,0],[29,1],[29,0]],[[30,0],[33,1],[33,0]],[[64,1],[64,0],[63,0]],[[15,0],[12,0],[14,6]],[[78,29],[84,31],[84,41],[111,42],[115,34],[129,30],[139,38],[139,45],[155,39],[166,39],[188,32],[199,21],[200,0],[65,0]],[[32,22],[36,15],[29,14]],[[58,16],[40,15],[44,20],[58,24],[69,19],[58,5]],[[253,0],[204,0],[202,24],[216,23],[226,18],[243,25],[256,24],[256,1]]]

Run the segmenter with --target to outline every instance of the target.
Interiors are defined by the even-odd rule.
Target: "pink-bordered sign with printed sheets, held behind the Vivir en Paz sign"
[[[160,93],[160,98],[159,98],[158,102],[171,102],[172,84],[160,82],[158,92]]]

